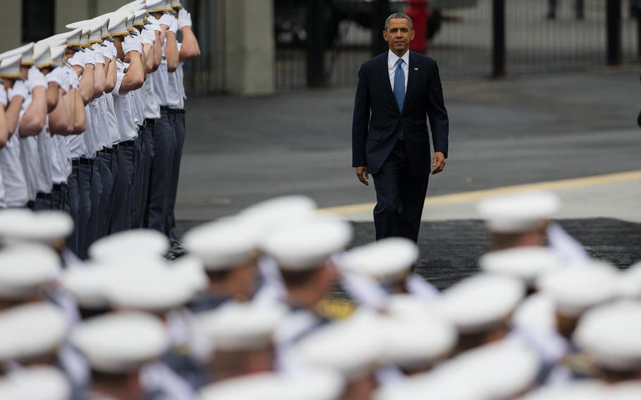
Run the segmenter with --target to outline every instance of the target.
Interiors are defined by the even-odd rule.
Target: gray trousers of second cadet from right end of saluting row
[[[154,126],[154,159],[149,182],[149,228],[168,235],[167,215],[170,204],[170,181],[176,135],[166,109]]]

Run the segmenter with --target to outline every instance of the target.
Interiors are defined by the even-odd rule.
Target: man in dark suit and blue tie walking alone
[[[368,185],[374,178],[376,239],[406,237],[416,242],[430,176],[430,120],[434,160],[440,173],[447,158],[449,121],[438,66],[409,51],[411,19],[394,13],[383,37],[390,51],[361,65],[351,128],[352,166]]]

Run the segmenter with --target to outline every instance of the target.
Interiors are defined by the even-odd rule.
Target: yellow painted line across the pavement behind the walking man
[[[443,196],[432,196],[425,199],[425,206],[436,206],[441,204],[465,203],[467,201],[478,201],[491,196],[510,194],[522,190],[562,190],[576,189],[579,187],[589,187],[597,185],[609,185],[613,183],[632,182],[641,180],[641,170],[629,171],[626,173],[611,173],[606,175],[595,175],[589,177],[579,177],[574,179],[553,180],[549,182],[529,183],[525,185],[514,185],[506,187],[497,187],[494,189],[475,190],[472,192],[445,194]],[[318,210],[320,213],[328,214],[349,214],[371,211],[375,203],[351,204],[349,206],[328,207]]]

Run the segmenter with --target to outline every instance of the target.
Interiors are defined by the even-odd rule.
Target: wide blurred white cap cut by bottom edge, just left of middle
[[[223,380],[202,388],[202,400],[337,400],[345,382],[337,373],[259,373]]]

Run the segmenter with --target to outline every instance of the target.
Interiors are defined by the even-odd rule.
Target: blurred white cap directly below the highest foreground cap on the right
[[[518,247],[484,254],[478,261],[481,270],[517,277],[533,286],[537,277],[564,267],[561,258],[547,247]]]

